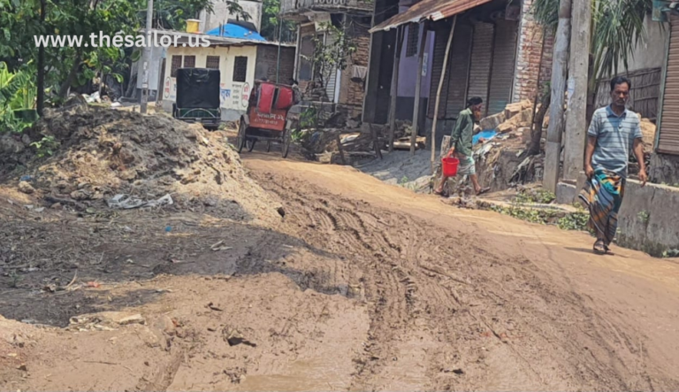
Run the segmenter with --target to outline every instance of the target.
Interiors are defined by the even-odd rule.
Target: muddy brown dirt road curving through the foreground
[[[101,287],[3,288],[0,388],[679,389],[674,262],[347,167],[245,164],[279,224],[186,212],[109,250],[126,273],[80,270]]]

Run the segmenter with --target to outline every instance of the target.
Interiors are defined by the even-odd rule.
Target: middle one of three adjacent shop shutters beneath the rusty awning
[[[469,93],[467,99],[479,96],[484,100],[484,111],[488,111],[488,87],[492,64],[492,38],[495,26],[492,23],[474,25],[471,48],[471,69],[469,70]]]

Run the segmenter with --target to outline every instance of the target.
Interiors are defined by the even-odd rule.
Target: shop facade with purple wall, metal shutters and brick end
[[[395,5],[399,6],[399,13],[393,11]],[[419,26],[426,26],[429,35],[433,35],[428,59],[431,73],[426,71],[431,76],[423,79],[429,94],[422,91],[428,102],[421,135],[431,132],[434,116],[438,117],[442,131],[438,135],[449,133],[471,96],[484,99],[484,115],[503,111],[512,102],[535,99],[540,86],[551,76],[553,38],[544,35],[542,27],[532,19],[531,5],[532,0],[509,4],[502,0],[421,0],[412,4],[376,0],[363,120],[386,123],[389,110],[385,100],[394,90],[391,65],[397,30],[410,28],[413,21],[421,21]],[[453,41],[444,70],[453,25]],[[402,70],[401,67],[399,90]],[[444,73],[439,112],[435,113],[439,81]]]

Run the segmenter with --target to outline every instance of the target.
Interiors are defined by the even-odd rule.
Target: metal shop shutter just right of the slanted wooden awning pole
[[[457,115],[464,109],[467,102],[467,87],[469,81],[469,60],[471,51],[472,27],[458,23],[453,35],[453,47],[450,48],[448,64],[450,81],[448,85],[448,99],[446,102],[446,118],[457,119]]]

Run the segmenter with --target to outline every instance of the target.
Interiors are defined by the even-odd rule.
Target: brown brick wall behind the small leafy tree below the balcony
[[[340,81],[340,104],[348,106],[351,117],[362,113],[365,86],[363,81],[352,81],[353,65],[368,66],[370,56],[370,33],[368,25],[360,20],[347,17],[347,36],[351,36],[356,45],[354,55],[347,61],[347,68],[342,71]]]

